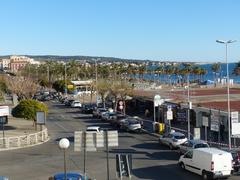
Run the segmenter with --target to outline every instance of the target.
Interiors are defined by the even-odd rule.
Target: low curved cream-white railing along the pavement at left
[[[29,147],[49,139],[47,128],[34,134],[0,138],[0,151]]]

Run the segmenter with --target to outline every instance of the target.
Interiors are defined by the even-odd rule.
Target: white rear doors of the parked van
[[[216,175],[230,175],[232,170],[232,155],[217,153],[213,155],[213,172]]]

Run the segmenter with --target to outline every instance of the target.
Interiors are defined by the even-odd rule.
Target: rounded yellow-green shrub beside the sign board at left
[[[37,111],[44,111],[47,114],[48,107],[42,102],[25,99],[20,101],[20,103],[12,110],[12,115],[14,117],[35,120]]]

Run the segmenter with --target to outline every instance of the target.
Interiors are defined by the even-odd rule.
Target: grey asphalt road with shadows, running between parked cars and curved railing
[[[88,125],[112,127],[91,115],[81,114],[79,109],[49,103],[47,127],[50,141],[39,146],[0,152],[0,175],[11,180],[47,180],[57,172],[63,171],[63,152],[58,141],[67,137],[70,148],[67,151],[67,169],[83,173],[83,152],[74,152],[74,131],[85,130]],[[201,179],[200,176],[181,170],[177,165],[178,154],[158,144],[157,138],[146,133],[119,132],[119,146],[110,148],[110,179],[116,178],[116,153],[131,153],[133,157],[132,179]],[[105,149],[87,152],[86,173],[97,180],[107,179],[107,161]],[[123,178],[127,179],[127,178]],[[230,179],[239,179],[232,176]]]

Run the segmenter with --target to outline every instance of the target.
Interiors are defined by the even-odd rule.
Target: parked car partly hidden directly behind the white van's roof
[[[193,139],[193,140],[187,140],[183,144],[180,144],[178,147],[179,147],[178,151],[182,155],[191,149],[209,148],[209,145],[203,140]]]

